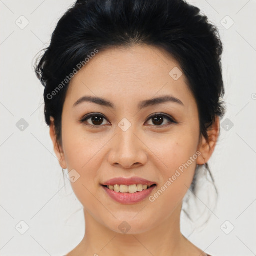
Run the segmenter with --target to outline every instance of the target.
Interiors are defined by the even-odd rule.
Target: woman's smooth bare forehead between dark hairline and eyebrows
[[[182,74],[179,63],[160,48],[112,47],[99,51],[74,75],[66,99],[74,102],[83,95],[93,95],[127,102],[160,94],[183,100],[191,97],[184,74],[176,79],[173,73]]]

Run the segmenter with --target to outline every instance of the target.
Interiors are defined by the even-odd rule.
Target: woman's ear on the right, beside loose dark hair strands
[[[197,158],[197,164],[202,165],[210,159],[210,156],[212,155],[217,143],[219,129],[219,117],[215,116],[214,122],[207,129],[208,141],[206,141],[203,136],[200,138],[197,150],[200,151],[201,154]]]

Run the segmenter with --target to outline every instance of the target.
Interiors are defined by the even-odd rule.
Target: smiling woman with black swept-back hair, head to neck
[[[84,208],[85,235],[68,256],[207,255],[179,224],[224,114],[222,44],[199,11],[182,0],[78,0],[59,20],[36,73]]]

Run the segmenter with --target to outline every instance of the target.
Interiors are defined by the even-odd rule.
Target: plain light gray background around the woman
[[[63,255],[84,235],[82,205],[67,177],[64,183],[44,122],[43,86],[32,70],[35,55],[48,46],[58,19],[74,2],[0,0],[0,255]],[[182,232],[213,256],[256,255],[256,1],[188,2],[219,29],[227,113],[209,162],[218,205],[213,210],[198,198],[212,216],[194,232],[182,217]],[[226,15],[234,21],[230,28]],[[21,118],[28,123],[23,131],[16,126]],[[24,234],[20,221],[29,227]]]

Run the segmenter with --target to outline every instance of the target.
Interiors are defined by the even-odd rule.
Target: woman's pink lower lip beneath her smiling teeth
[[[115,201],[124,204],[132,204],[144,200],[152,192],[156,185],[152,185],[148,189],[136,193],[115,192],[114,190],[111,190],[105,186],[102,187],[106,193]]]

